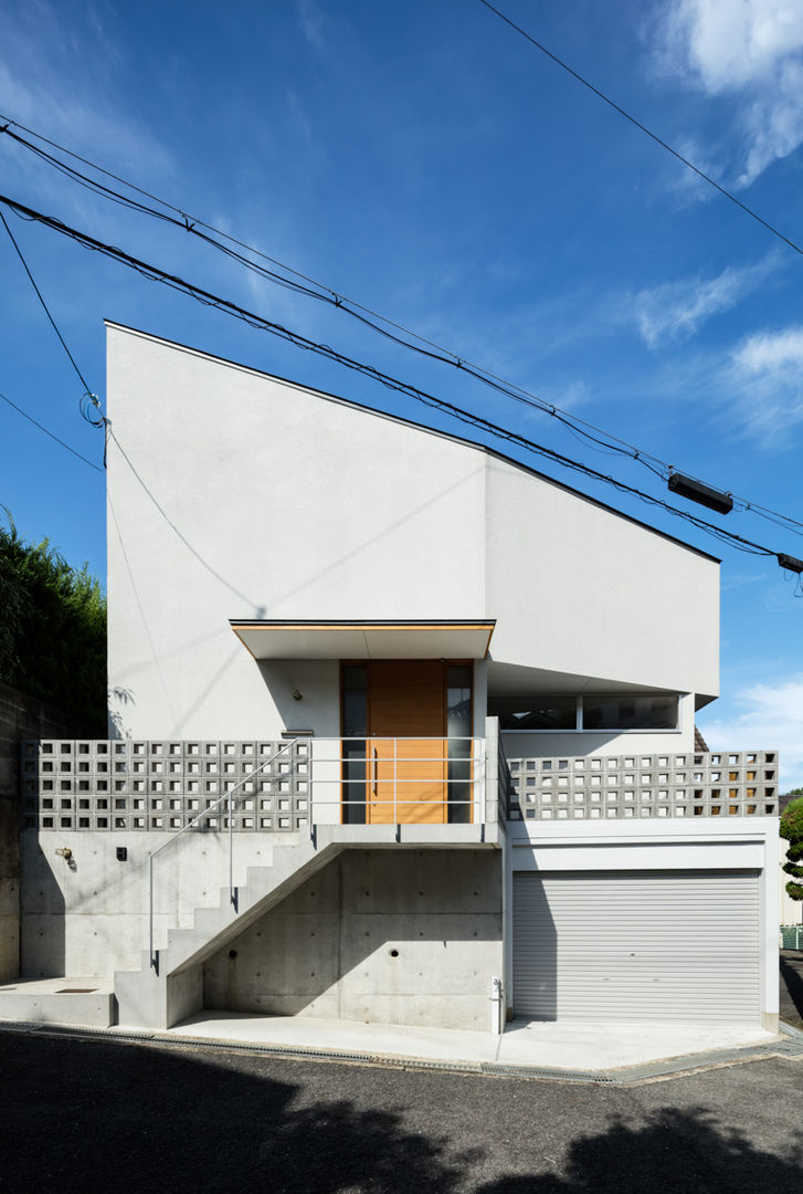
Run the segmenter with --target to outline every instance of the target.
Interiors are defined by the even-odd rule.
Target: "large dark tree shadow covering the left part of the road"
[[[294,1070],[285,1063],[283,1073],[303,1075],[296,1084],[242,1072],[243,1060],[0,1034],[8,1096],[0,1116],[0,1190],[457,1189],[471,1157],[446,1161],[446,1140],[436,1131],[406,1130],[397,1110],[358,1109],[339,1097],[310,1101],[303,1088],[317,1089],[319,1078],[325,1091],[338,1090],[334,1066]]]

